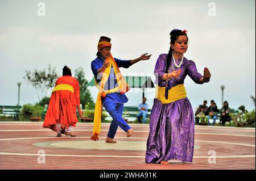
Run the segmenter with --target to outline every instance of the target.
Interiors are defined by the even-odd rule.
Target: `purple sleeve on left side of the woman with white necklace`
[[[166,74],[164,71],[164,68],[166,66],[165,60],[166,60],[166,57],[164,56],[164,54],[160,54],[155,64],[154,74],[155,74],[156,81],[158,82],[163,81],[163,75]],[[156,81],[155,83],[158,83]]]

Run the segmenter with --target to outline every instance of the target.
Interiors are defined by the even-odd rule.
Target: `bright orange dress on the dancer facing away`
[[[76,107],[80,106],[79,82],[70,75],[64,75],[57,79],[55,86],[60,84],[71,85],[74,92],[69,90],[52,92],[43,127],[53,131],[56,131],[56,124],[61,124],[62,131],[65,131],[64,128],[76,127],[78,122]]]

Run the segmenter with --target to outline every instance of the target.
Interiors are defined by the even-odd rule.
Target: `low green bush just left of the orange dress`
[[[20,120],[28,120],[30,117],[40,117],[43,110],[43,106],[24,104],[20,110],[19,118]]]

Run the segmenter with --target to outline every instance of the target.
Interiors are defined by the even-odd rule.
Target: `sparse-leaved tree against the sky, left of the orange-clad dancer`
[[[33,72],[26,70],[26,75],[23,78],[35,88],[40,102],[42,98],[46,97],[47,90],[55,86],[58,77],[55,68],[52,68],[49,64],[48,73],[45,69],[35,69]]]

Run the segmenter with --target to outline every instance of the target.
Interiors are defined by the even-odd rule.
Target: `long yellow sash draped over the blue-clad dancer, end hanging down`
[[[90,138],[91,140],[97,141],[98,136],[101,131],[101,113],[102,113],[102,100],[101,96],[105,97],[106,94],[113,93],[113,92],[121,92],[121,94],[124,94],[125,92],[129,91],[130,87],[127,85],[125,79],[123,78],[121,71],[119,70],[117,63],[115,62],[114,58],[112,57],[112,54],[108,58],[110,65],[106,70],[104,71],[104,74],[101,77],[100,85],[97,84],[96,79],[94,79],[96,86],[98,88],[98,96],[96,100],[96,106],[94,111],[94,119],[93,119],[93,136]],[[114,74],[117,78],[118,87],[115,87],[111,90],[104,90],[105,83],[108,81],[109,74],[111,67],[114,68]]]

